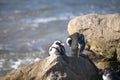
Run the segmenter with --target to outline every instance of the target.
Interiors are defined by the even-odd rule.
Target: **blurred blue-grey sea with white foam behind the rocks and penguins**
[[[120,0],[0,0],[0,76],[47,57],[70,19],[89,13],[120,13]]]

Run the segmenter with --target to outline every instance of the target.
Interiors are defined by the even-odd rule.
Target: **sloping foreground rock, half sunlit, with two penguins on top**
[[[0,80],[100,80],[93,64],[83,57],[47,57],[11,71]]]

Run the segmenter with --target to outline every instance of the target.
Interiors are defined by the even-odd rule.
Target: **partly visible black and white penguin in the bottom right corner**
[[[120,80],[120,77],[110,68],[105,68],[102,74],[103,80]]]

